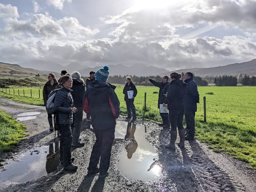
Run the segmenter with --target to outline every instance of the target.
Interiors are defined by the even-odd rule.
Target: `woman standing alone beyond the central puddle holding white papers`
[[[130,91],[133,91],[132,95],[128,95],[128,93],[131,93]],[[127,108],[127,117],[126,121],[130,121],[132,118],[133,113],[133,120],[131,122],[135,122],[136,120],[136,108],[134,106],[134,98],[137,95],[137,89],[135,85],[133,84],[132,78],[127,76],[126,77],[126,84],[123,88],[123,94],[124,94],[124,100],[126,102],[126,108]]]

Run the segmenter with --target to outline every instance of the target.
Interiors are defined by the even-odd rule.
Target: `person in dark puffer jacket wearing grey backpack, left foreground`
[[[71,76],[64,75],[60,77],[60,83],[62,87],[57,91],[53,105],[57,113],[60,131],[60,161],[63,163],[64,169],[76,170],[77,166],[72,163],[71,159],[71,124],[73,123],[73,113],[77,112],[70,93],[73,80]]]

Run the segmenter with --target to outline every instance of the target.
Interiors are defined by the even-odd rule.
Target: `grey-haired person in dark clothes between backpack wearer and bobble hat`
[[[84,143],[79,142],[80,132],[81,132],[81,126],[82,126],[82,116],[83,116],[83,98],[84,93],[86,92],[86,88],[84,85],[83,79],[81,79],[81,74],[77,71],[72,73],[72,80],[73,80],[73,86],[72,86],[72,92],[71,95],[74,100],[74,106],[77,108],[77,112],[73,114],[73,123],[71,125],[72,129],[72,146],[73,147],[82,147]]]

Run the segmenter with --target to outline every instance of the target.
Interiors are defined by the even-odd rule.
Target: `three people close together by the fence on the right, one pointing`
[[[147,77],[156,87],[159,87],[158,108],[167,105],[168,113],[162,113],[162,126],[170,128],[170,143],[166,148],[175,150],[177,139],[177,127],[180,137],[178,146],[184,148],[185,140],[195,140],[195,112],[199,103],[199,93],[197,84],[193,79],[193,73],[186,72],[183,80],[182,75],[177,72],[168,76],[163,76],[161,82],[157,82]],[[169,80],[169,82],[168,82]],[[186,133],[183,127],[183,117],[185,115]],[[185,136],[186,134],[186,136]]]

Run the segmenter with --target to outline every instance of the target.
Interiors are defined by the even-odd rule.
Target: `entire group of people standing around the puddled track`
[[[96,136],[88,166],[88,175],[99,172],[101,178],[108,176],[116,119],[120,114],[120,102],[115,93],[116,87],[107,82],[109,74],[109,66],[104,66],[96,72],[91,71],[90,77],[86,79],[86,84],[79,72],[69,74],[63,70],[58,81],[53,73],[48,75],[49,80],[43,90],[44,102],[46,104],[52,90],[58,89],[54,100],[54,110],[57,114],[60,131],[60,161],[66,170],[77,169],[77,165],[73,164],[71,147],[84,146],[84,143],[79,140],[84,111],[87,114],[86,120],[91,121]],[[148,79],[154,86],[160,88],[158,107],[167,105],[169,110],[169,113],[160,113],[163,127],[171,126],[170,144],[166,147],[175,149],[178,126],[179,146],[184,148],[185,130],[182,125],[184,114],[187,125],[186,139],[194,139],[195,135],[195,112],[199,94],[193,74],[185,73],[184,81],[181,80],[181,75],[177,72],[170,74],[170,82],[168,82],[168,76],[163,76],[161,82],[149,77]],[[133,123],[137,118],[134,105],[137,89],[129,76],[126,77],[123,94],[127,108],[125,120]],[[48,122],[50,131],[53,131],[51,114],[48,114]],[[98,163],[100,163],[99,168]]]

